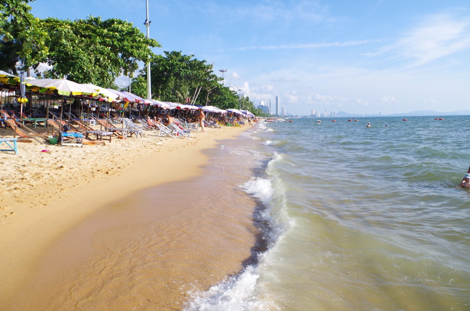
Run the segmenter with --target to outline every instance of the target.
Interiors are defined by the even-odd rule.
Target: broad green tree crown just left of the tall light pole
[[[78,83],[109,87],[119,75],[132,75],[139,61],[149,60],[153,55],[149,46],[160,47],[132,23],[116,18],[88,16],[70,21],[49,17],[40,25],[48,33],[46,62],[52,66],[45,76]]]

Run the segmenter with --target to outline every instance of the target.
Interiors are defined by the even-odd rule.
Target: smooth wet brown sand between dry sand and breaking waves
[[[224,156],[202,176],[133,192],[60,235],[9,308],[180,310],[192,292],[239,272],[254,244],[255,202],[237,187],[250,168],[231,171],[234,155],[220,147],[204,155]]]

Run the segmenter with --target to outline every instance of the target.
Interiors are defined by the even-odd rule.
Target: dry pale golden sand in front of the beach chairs
[[[60,245],[77,224],[139,190],[200,175],[207,159],[202,150],[245,130],[207,128],[206,133],[191,133],[192,140],[159,138],[146,131],[143,138],[114,138],[107,146],[83,148],[18,142],[18,155],[1,152],[0,309],[15,305],[19,291],[38,273],[45,251]],[[0,135],[11,137],[12,131],[2,128]],[[182,212],[168,205],[158,217],[169,220]]]

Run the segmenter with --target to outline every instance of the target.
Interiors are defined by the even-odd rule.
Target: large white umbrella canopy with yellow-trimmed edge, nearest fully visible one
[[[56,90],[57,93],[64,96],[70,95],[90,95],[97,96],[98,91],[87,86],[69,81],[67,79],[36,79],[24,82],[32,87],[32,91]]]

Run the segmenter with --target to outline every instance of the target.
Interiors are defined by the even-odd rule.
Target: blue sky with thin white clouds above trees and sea
[[[44,18],[120,18],[145,0],[36,0]],[[470,2],[149,0],[150,37],[227,69],[256,104],[382,114],[470,110]],[[125,79],[118,82],[125,84]]]

